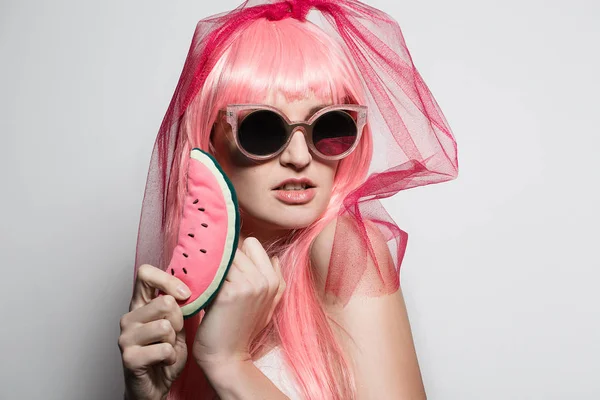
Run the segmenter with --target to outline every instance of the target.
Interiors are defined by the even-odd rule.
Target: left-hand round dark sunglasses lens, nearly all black
[[[267,156],[286,142],[285,121],[269,110],[250,113],[238,127],[240,145],[250,154]]]

